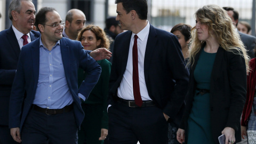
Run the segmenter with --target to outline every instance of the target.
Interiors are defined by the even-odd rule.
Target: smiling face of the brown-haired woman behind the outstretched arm
[[[93,51],[98,48],[101,40],[97,40],[95,34],[91,30],[84,31],[81,43],[85,50]]]

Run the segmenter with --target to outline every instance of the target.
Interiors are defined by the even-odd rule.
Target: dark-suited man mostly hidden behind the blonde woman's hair
[[[227,11],[229,17],[233,21],[234,26],[237,27],[239,13],[235,11],[233,7],[223,7],[223,9]],[[251,59],[255,58],[254,49],[256,44],[256,37],[241,33],[240,31],[238,31],[238,34],[240,35],[240,38],[244,43],[245,49],[247,50],[247,54],[249,55],[249,57]]]

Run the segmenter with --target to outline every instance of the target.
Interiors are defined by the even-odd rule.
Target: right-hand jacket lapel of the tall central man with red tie
[[[156,43],[157,43],[157,34],[155,28],[150,24],[149,28],[149,34],[148,34],[148,41],[145,51],[145,58],[144,58],[144,75],[145,80],[148,77],[148,71],[150,68],[150,60],[152,58],[152,54],[154,53],[156,49]]]

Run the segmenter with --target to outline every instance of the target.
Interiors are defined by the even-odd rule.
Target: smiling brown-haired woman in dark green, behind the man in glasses
[[[82,43],[85,50],[93,51],[99,47],[109,49],[109,40],[103,29],[98,26],[88,25],[83,28],[78,34],[77,41]],[[101,66],[101,75],[89,98],[82,102],[85,118],[81,130],[78,131],[78,144],[83,144],[84,141],[87,144],[102,144],[108,134],[107,97],[111,63],[106,59],[97,62]],[[78,86],[85,76],[84,70],[79,69]]]

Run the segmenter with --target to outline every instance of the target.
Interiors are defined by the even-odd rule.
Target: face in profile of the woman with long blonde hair
[[[199,41],[207,41],[210,39],[209,27],[201,23],[198,18],[196,18],[196,30]]]

